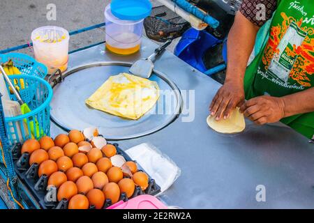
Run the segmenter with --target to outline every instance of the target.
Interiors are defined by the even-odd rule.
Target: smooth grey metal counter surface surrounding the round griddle
[[[156,46],[144,38],[141,52],[117,56],[98,45],[70,54],[69,68],[96,61],[136,61]],[[154,134],[119,141],[124,150],[154,144],[181,168],[181,176],[160,199],[182,208],[314,208],[314,144],[284,125],[257,126],[248,120],[242,133],[214,132],[206,118],[220,84],[170,52],[156,61],[155,68],[181,91],[195,90],[193,121],[184,122],[188,115],[181,114]],[[60,132],[52,124],[52,137]],[[257,202],[257,185],[264,185],[266,201]]]

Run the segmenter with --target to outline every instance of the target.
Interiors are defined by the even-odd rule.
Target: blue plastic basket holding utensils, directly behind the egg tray
[[[30,138],[39,139],[43,135],[50,135],[50,101],[52,100],[52,88],[48,82],[39,77],[29,75],[10,75],[12,83],[17,80],[20,88],[20,95],[24,102],[31,109],[31,112],[15,117],[5,118],[5,128],[10,144],[23,142]],[[21,82],[24,82],[22,89]],[[8,85],[7,85],[8,88]],[[15,95],[10,94],[10,99],[15,100]],[[37,131],[31,132],[31,121],[37,120],[39,123],[39,134]],[[35,122],[33,122],[35,123]],[[35,126],[33,126],[36,129]]]

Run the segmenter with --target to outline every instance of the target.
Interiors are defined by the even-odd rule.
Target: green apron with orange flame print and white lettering
[[[278,1],[269,38],[246,69],[246,100],[260,95],[282,97],[314,86],[314,2]],[[311,139],[314,112],[281,119]]]

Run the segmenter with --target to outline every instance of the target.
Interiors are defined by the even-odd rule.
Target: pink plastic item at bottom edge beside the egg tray
[[[107,209],[167,209],[167,206],[156,197],[151,195],[140,195],[126,202],[119,201]]]

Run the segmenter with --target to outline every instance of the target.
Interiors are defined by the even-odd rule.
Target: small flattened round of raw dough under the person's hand
[[[227,119],[220,119],[220,121],[216,121],[215,116],[208,116],[207,124],[216,132],[228,134],[242,132],[246,128],[244,115],[241,114],[239,107],[234,109],[230,114],[230,117]]]

